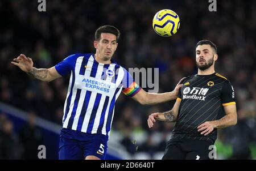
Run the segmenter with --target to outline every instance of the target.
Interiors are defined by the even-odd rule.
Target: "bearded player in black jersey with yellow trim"
[[[216,151],[211,145],[217,138],[217,129],[236,125],[234,88],[228,79],[214,71],[217,58],[213,42],[199,41],[197,75],[183,80],[184,86],[170,111],[148,117],[148,127],[156,120],[176,122],[163,159],[214,159]]]

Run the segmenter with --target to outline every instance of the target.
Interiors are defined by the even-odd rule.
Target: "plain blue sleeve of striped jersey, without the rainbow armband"
[[[73,66],[75,64],[75,61],[76,61],[75,57],[76,57],[76,54],[69,55],[63,61],[61,61],[61,62],[57,63],[57,65],[55,65],[55,69],[61,76],[70,74],[70,72],[73,69]]]

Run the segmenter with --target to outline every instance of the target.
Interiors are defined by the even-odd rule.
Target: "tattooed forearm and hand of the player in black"
[[[177,114],[180,107],[180,100],[176,100],[174,107],[168,111],[163,113],[152,113],[148,116],[147,125],[149,128],[154,126],[156,120],[163,122],[176,122]]]

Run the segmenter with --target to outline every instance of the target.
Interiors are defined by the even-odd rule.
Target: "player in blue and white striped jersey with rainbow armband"
[[[158,104],[177,98],[179,88],[167,93],[148,93],[112,56],[119,30],[104,25],[95,33],[95,54],[69,55],[49,69],[36,69],[32,59],[20,54],[14,65],[28,75],[50,82],[71,74],[64,104],[59,159],[105,159],[114,106],[121,92],[141,104]]]

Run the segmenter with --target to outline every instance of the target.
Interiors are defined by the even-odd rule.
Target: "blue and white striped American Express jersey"
[[[141,90],[127,70],[117,63],[98,63],[94,54],[69,55],[55,69],[62,76],[71,73],[63,115],[66,129],[109,135],[121,91],[134,96]]]

